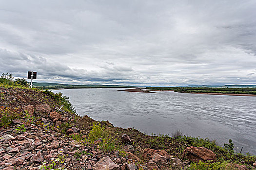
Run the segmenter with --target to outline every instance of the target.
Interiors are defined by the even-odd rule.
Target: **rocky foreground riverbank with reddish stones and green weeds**
[[[67,98],[49,91],[0,87],[0,119],[0,170],[193,170],[199,161],[256,169],[256,157],[212,141],[148,136],[81,118]]]

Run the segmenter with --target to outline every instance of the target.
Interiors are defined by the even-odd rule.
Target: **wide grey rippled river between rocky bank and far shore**
[[[54,90],[70,97],[80,116],[109,120],[114,126],[134,127],[147,134],[184,135],[232,139],[236,151],[256,155],[256,97],[135,93],[118,89]]]

